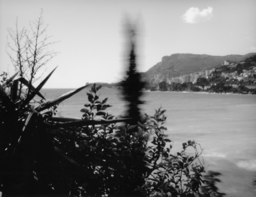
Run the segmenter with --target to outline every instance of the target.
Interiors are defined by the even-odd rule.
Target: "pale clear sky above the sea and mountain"
[[[45,88],[123,79],[127,20],[137,27],[139,72],[175,53],[256,52],[255,0],[0,0],[0,73],[15,73],[6,53],[7,29],[15,29],[17,19],[19,30],[29,30],[41,9],[49,42],[57,42],[49,50],[58,52],[46,65],[44,76],[58,68]]]

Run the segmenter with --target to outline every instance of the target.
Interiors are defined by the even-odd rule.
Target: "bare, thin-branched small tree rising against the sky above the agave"
[[[56,43],[50,41],[47,36],[47,26],[44,26],[44,19],[40,16],[30,22],[30,31],[26,28],[18,30],[18,19],[15,29],[8,29],[7,54],[21,78],[27,79],[28,93],[32,91],[32,83],[40,78],[38,71],[41,70],[57,52],[49,50],[49,47]],[[18,98],[22,94],[22,87],[19,87]]]

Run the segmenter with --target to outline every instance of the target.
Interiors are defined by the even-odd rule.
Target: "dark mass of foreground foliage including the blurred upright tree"
[[[131,30],[130,67],[122,82],[124,99],[131,118],[114,119],[105,110],[108,98],[99,99],[101,86],[94,84],[81,109],[81,120],[56,118],[59,102],[87,86],[82,86],[49,102],[33,99],[51,76],[28,94],[19,94],[17,81],[4,75],[0,85],[0,191],[11,196],[211,196],[219,193],[206,177],[199,157],[202,149],[194,141],[172,150],[164,134],[165,110],[144,115],[143,83],[136,71],[134,31]],[[8,82],[8,83],[7,83]],[[181,85],[182,88],[187,84]],[[10,93],[5,92],[10,87]],[[45,110],[48,110],[45,112]],[[98,120],[95,118],[99,118]],[[116,125],[126,122],[124,125]],[[150,134],[153,135],[152,141]],[[189,153],[188,153],[189,152]],[[196,163],[198,160],[199,163]],[[215,174],[216,175],[216,174]],[[219,174],[217,174],[219,175]],[[202,184],[206,183],[205,187]]]

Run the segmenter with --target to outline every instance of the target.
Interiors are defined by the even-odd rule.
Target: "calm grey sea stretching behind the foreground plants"
[[[58,105],[58,117],[81,119],[81,108],[88,103],[84,89]],[[72,89],[42,89],[47,100]],[[125,113],[125,101],[119,90],[102,89],[99,100],[108,98],[113,105],[106,111],[116,117]],[[182,143],[195,140],[203,149],[201,160],[206,171],[221,173],[217,183],[226,196],[256,195],[256,95],[209,94],[190,92],[144,91],[142,113],[153,116],[155,110],[166,110],[166,134],[173,142],[172,151]]]

